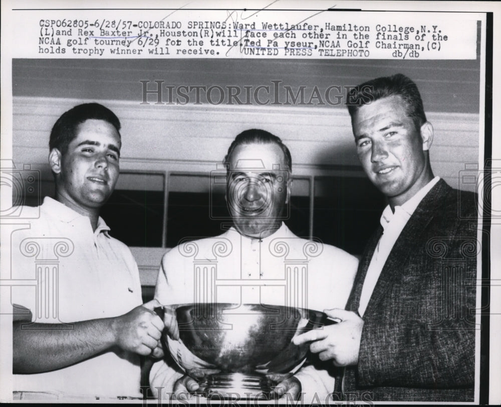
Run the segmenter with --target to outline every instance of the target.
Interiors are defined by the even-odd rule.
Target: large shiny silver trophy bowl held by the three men
[[[179,340],[164,340],[175,362],[199,380],[199,393],[228,399],[267,399],[277,381],[305,361],[309,343],[292,338],[322,327],[320,311],[263,304],[188,304],[175,312]]]

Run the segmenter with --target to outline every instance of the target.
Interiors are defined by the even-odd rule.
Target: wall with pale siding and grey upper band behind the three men
[[[281,137],[291,150],[294,176],[302,180],[365,178],[358,162],[346,108],[312,105],[149,104],[143,85],[217,85],[317,87],[356,85],[376,76],[404,73],[420,89],[435,137],[430,152],[435,175],[449,185],[473,190],[461,178],[466,165],[478,163],[479,60],[473,61],[352,61],[352,60],[50,60],[13,61],[13,159],[18,168],[29,164],[40,171],[42,195],[52,195],[47,164],[52,125],[76,104],[98,101],[122,122],[122,174],[117,189],[177,192],[202,191],[204,184],[174,183],[171,175],[208,174],[218,168],[235,135],[247,128],[264,128]],[[344,89],[343,89],[344,90]],[[331,93],[335,95],[335,93]],[[217,97],[217,92],[214,93]],[[165,92],[163,97],[166,98]],[[283,97],[283,93],[281,94]],[[333,97],[334,99],[334,97]],[[283,101],[283,100],[282,100]],[[344,100],[343,100],[344,102]],[[141,175],[144,174],[144,175]],[[151,174],[158,176],[152,177]],[[324,178],[322,178],[324,177]],[[327,177],[327,178],[325,178]],[[169,185],[169,179],[172,185]],[[197,184],[200,184],[198,185]],[[332,195],[329,182],[293,185],[306,196],[315,185],[320,197]],[[324,190],[326,189],[326,190]],[[185,191],[185,192],[186,192]],[[37,191],[35,191],[35,194]],[[27,193],[28,198],[30,194]],[[32,195],[34,200],[39,197]],[[155,284],[165,248],[133,247],[143,285]]]

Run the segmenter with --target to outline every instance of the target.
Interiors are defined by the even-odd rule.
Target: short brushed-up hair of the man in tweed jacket
[[[397,73],[393,76],[382,76],[355,86],[348,92],[346,102],[351,120],[360,106],[372,103],[388,96],[400,96],[405,103],[405,111],[419,130],[426,122],[423,101],[416,84],[407,76]]]

